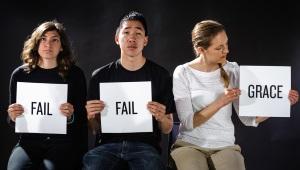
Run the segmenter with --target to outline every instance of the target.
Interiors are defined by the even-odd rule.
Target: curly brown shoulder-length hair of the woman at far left
[[[56,31],[60,35],[60,41],[63,50],[60,51],[57,56],[57,65],[59,75],[65,79],[68,70],[75,63],[75,60],[71,51],[70,42],[65,32],[65,28],[56,20],[44,22],[33,30],[31,36],[24,43],[21,58],[23,63],[27,65],[26,71],[28,73],[33,71],[40,59],[38,48],[41,38],[48,31]]]

